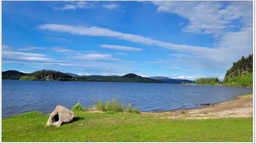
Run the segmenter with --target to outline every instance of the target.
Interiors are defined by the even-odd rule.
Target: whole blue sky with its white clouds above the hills
[[[223,79],[253,1],[2,1],[2,71]]]

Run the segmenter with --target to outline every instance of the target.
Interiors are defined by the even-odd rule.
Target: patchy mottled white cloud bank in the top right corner
[[[231,21],[240,19],[245,26],[252,26],[253,2],[231,1],[227,6],[221,1],[152,1],[157,11],[176,13],[189,24],[182,29],[189,33],[204,33],[219,36]]]

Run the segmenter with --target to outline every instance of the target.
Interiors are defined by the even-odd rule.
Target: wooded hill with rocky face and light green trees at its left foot
[[[22,76],[20,80],[70,81],[73,77],[56,70],[39,70]]]

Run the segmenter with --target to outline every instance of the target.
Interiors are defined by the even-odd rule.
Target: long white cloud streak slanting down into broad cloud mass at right
[[[188,58],[178,58],[175,61],[180,64],[188,65],[192,69],[196,70],[212,70],[222,69],[227,70],[230,68],[234,61],[241,58],[242,55],[247,56],[253,52],[253,35],[252,27],[242,28],[239,32],[228,32],[222,38],[215,42],[214,48],[189,46],[189,45],[178,45],[159,40],[153,40],[151,38],[144,37],[142,35],[134,35],[121,33],[118,31],[112,31],[110,29],[99,28],[99,27],[84,27],[84,26],[72,26],[72,25],[61,25],[61,24],[42,24],[38,26],[42,30],[51,30],[58,32],[66,32],[77,35],[88,35],[88,36],[103,36],[110,38],[117,38],[120,40],[127,40],[131,42],[137,42],[143,45],[157,45],[166,49],[174,51],[189,53],[186,55]],[[241,43],[237,47],[232,45],[228,40],[228,35],[233,35],[232,41]],[[241,38],[240,34],[243,35]],[[243,39],[243,40],[241,40]],[[225,42],[226,41],[226,42]],[[231,42],[232,42],[231,41]],[[228,56],[227,56],[228,54]],[[192,56],[189,56],[192,55]],[[174,55],[173,55],[174,56]],[[178,57],[182,54],[177,55]],[[183,55],[184,56],[184,55]],[[162,63],[162,62],[149,62]]]

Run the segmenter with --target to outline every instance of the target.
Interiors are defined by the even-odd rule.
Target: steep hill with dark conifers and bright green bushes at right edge
[[[225,74],[223,85],[253,86],[253,54],[246,58],[242,56],[240,60],[233,62],[233,66]]]

